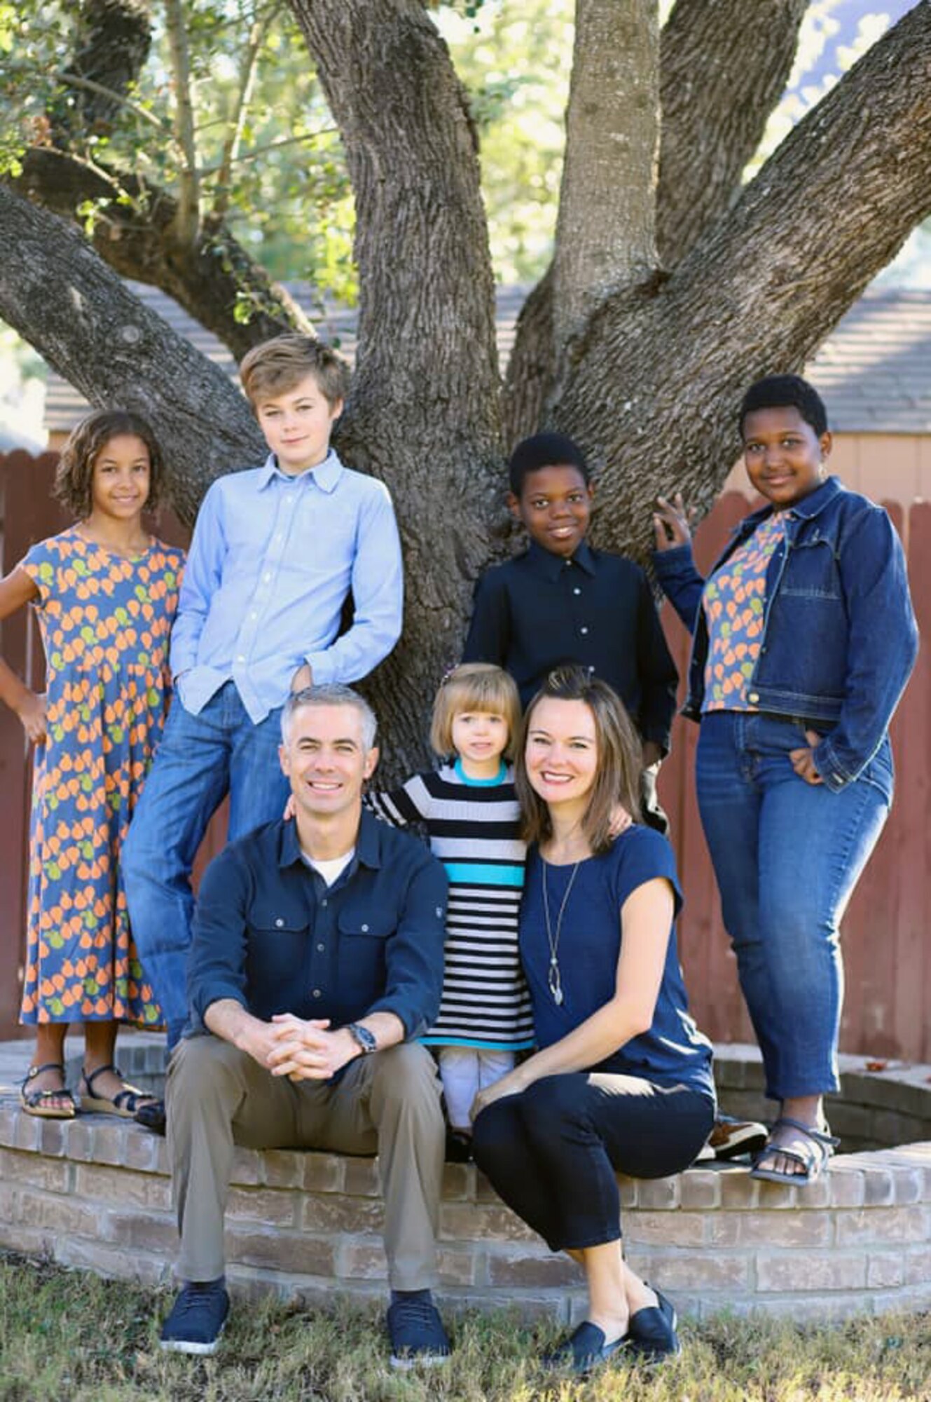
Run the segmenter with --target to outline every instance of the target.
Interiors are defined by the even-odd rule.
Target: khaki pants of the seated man
[[[165,1099],[182,1280],[223,1274],[223,1216],[241,1144],[377,1152],[391,1287],[436,1284],[444,1129],[425,1047],[401,1043],[356,1057],[335,1084],[293,1082],[220,1037],[189,1037],[175,1047]]]

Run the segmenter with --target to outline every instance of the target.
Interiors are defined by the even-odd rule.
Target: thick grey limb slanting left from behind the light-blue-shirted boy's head
[[[243,395],[133,297],[64,220],[0,185],[0,317],[91,404],[137,409],[168,446],[171,496],[193,520],[210,481],[265,449]]]

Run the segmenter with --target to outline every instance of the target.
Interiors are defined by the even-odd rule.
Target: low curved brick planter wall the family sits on
[[[687,1314],[931,1308],[931,1143],[841,1155],[805,1190],[712,1166],[621,1179],[621,1202],[631,1265]],[[376,1161],[237,1152],[227,1253],[240,1293],[383,1295],[380,1227]],[[175,1244],[164,1140],[107,1116],[42,1122],[0,1105],[0,1245],[156,1284]],[[446,1168],[440,1272],[446,1305],[565,1321],[583,1304],[578,1269],[471,1165]]]

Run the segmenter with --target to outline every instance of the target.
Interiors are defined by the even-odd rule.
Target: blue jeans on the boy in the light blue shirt
[[[227,792],[229,841],[282,816],[289,784],[278,760],[280,715],[279,707],[255,725],[233,681],[198,715],[175,695],[129,824],[122,850],[129,921],[170,1047],[188,1018],[193,858]]]

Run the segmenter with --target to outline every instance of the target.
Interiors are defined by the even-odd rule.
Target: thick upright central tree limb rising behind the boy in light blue
[[[414,0],[290,0],[356,198],[359,348],[339,449],[386,481],[405,554],[405,635],[379,673],[401,768],[458,656],[502,489],[499,374],[475,130]],[[499,519],[499,516],[498,516]]]

